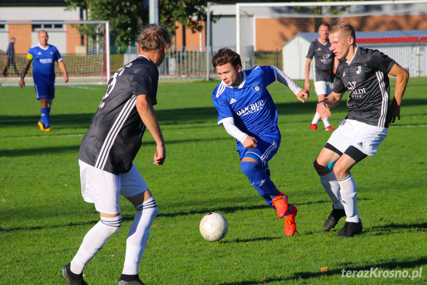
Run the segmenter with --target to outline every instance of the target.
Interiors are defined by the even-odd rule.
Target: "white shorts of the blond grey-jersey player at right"
[[[339,127],[332,132],[328,143],[344,153],[354,146],[368,156],[374,156],[378,146],[385,139],[388,128],[368,125],[356,120],[343,119]]]

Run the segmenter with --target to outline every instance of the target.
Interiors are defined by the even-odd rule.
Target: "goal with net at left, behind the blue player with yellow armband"
[[[110,77],[108,21],[0,21],[0,85],[18,84],[18,73],[25,65],[29,48],[39,44],[38,32],[41,30],[47,31],[47,43],[55,46],[63,58],[68,72],[67,84],[107,82]],[[15,56],[14,60],[8,60],[4,55],[12,37],[15,38]],[[26,85],[34,84],[32,66],[25,76]],[[55,74],[55,83],[63,83],[57,62]]]

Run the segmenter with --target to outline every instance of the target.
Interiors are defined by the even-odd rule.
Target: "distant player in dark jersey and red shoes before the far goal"
[[[335,77],[335,67],[338,65],[338,60],[331,51],[331,43],[329,42],[330,26],[327,23],[322,23],[319,26],[319,38],[310,44],[308,53],[305,60],[305,81],[304,88],[311,90],[310,84],[310,64],[314,57],[313,65],[313,78],[314,78],[314,91],[317,94],[318,102],[325,99],[325,97],[332,92],[333,77]],[[320,119],[320,114],[316,112],[313,120],[310,123],[312,130],[317,130],[317,122]],[[325,130],[333,131],[332,125],[329,123],[328,118],[322,118]]]

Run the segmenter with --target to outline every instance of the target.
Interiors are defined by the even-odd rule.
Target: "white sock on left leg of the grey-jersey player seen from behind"
[[[77,254],[71,261],[70,269],[75,274],[83,272],[86,264],[98,253],[104,246],[108,238],[120,229],[122,216],[105,218],[91,228],[83,238]]]

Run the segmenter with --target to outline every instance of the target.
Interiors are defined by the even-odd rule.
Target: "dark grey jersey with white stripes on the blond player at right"
[[[346,118],[379,127],[388,127],[388,72],[396,62],[377,50],[356,47],[350,63],[340,59],[333,92],[348,91]]]

